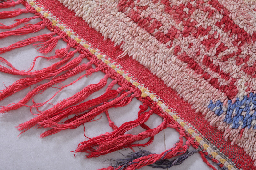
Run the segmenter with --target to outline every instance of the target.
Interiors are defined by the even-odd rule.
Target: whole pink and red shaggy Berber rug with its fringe
[[[33,119],[17,126],[21,133],[34,127],[48,128],[41,134],[46,137],[106,114],[113,131],[81,141],[75,152],[84,152],[91,158],[136,146],[141,150],[103,169],[169,168],[193,153],[200,154],[212,169],[213,164],[222,170],[256,169],[255,0],[0,2],[0,8],[6,8],[0,12],[1,20],[24,16],[12,25],[0,24],[1,44],[9,36],[51,31],[0,48],[0,71],[20,76],[1,89],[0,101],[12,99],[14,93],[39,83],[27,95],[20,96],[19,102],[10,100],[9,105],[0,107],[4,114],[20,107],[31,107],[32,113],[37,109]],[[26,8],[13,10],[17,4]],[[33,19],[40,22],[32,23]],[[66,48],[46,56],[60,39],[67,43]],[[28,61],[32,63],[29,69],[18,70],[4,57],[5,52],[30,44],[42,56]],[[75,53],[79,56],[72,58]],[[38,58],[60,60],[35,70]],[[89,62],[83,63],[84,58]],[[63,88],[97,71],[105,74],[98,83],[51,108],[38,109]],[[35,95],[81,72],[83,76],[62,84],[44,103],[33,100]],[[113,89],[114,85],[119,88]],[[106,86],[100,97],[86,100]],[[133,99],[141,101],[138,118],[117,127],[108,109],[128,105]],[[34,104],[27,105],[28,101]],[[144,124],[152,114],[163,118],[154,129]],[[136,126],[145,131],[126,133]],[[173,148],[160,154],[143,150],[165,128],[174,128],[180,134]],[[137,142],[146,138],[146,143]],[[188,152],[189,147],[194,150]]]

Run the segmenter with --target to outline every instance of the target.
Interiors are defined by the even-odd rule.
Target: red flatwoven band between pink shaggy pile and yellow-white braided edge
[[[196,113],[195,110],[191,108],[189,103],[181,99],[177,93],[172,90],[172,88],[167,87],[161,79],[150,73],[148,69],[145,69],[144,66],[133,60],[132,57],[125,56],[124,58],[117,59],[118,55],[122,54],[123,51],[120,48],[114,46],[114,43],[111,42],[111,40],[104,40],[104,37],[101,33],[95,31],[93,28],[90,28],[82,18],[76,17],[74,12],[64,7],[58,0],[37,0],[37,2],[51,11],[51,13],[61,21],[64,21],[65,24],[67,24],[72,30],[78,33],[79,36],[83,37],[94,47],[97,47],[97,49],[117,61],[125,70],[128,70],[134,77],[136,77],[139,80],[139,83],[144,84],[145,87],[148,87],[148,89],[160,96],[166,105],[172,107],[176,112],[180,114],[182,119],[185,119],[191,123],[196,129],[199,130],[202,135],[204,135],[204,137],[211,144],[215,145],[220,150],[220,152],[228,156],[228,158],[235,163],[236,167],[243,169],[254,168],[254,161],[244,152],[242,148],[238,147],[237,145],[231,146],[231,142],[229,140],[226,141],[223,138],[222,132],[218,131],[216,127],[211,126],[209,122],[204,119],[204,115],[201,113]],[[49,27],[48,29],[51,30]],[[67,41],[70,41],[68,39],[69,37],[67,37]],[[103,62],[100,63],[101,65],[105,65]],[[111,69],[107,67],[105,67],[105,69]],[[102,71],[105,72],[104,70]],[[113,71],[111,71],[111,73],[112,72]],[[119,74],[114,74],[114,77],[115,76],[120,77]],[[126,80],[124,79],[123,81]],[[179,125],[178,129],[183,128]]]

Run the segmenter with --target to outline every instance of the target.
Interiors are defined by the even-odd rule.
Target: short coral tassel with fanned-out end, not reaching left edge
[[[39,45],[37,47],[41,47],[41,48],[39,48],[37,51],[39,51],[40,53],[46,54],[53,50],[53,48],[57,45],[58,40],[60,39],[61,39],[60,36],[52,37],[50,40],[46,42],[33,44],[33,46]]]

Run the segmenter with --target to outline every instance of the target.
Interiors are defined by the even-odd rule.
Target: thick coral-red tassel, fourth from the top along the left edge
[[[44,28],[45,26],[42,21],[38,22],[37,24],[27,24],[26,26],[18,28],[16,30],[1,32],[0,39],[11,35],[25,35],[28,33],[35,33]]]

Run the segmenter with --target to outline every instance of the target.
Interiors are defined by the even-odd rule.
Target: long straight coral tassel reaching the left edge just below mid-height
[[[80,55],[82,56],[82,55]],[[71,71],[70,69],[77,69],[75,68],[79,63],[81,63],[82,61],[82,58],[81,57],[76,57],[74,58],[72,61],[68,62],[65,66],[62,66],[60,67],[59,69],[56,70],[56,68],[54,68],[54,65],[52,65],[51,67],[48,67],[49,70],[41,70],[40,71],[40,74],[38,76],[35,76],[35,77],[28,77],[28,78],[22,78],[16,82],[14,82],[12,85],[9,85],[7,88],[5,88],[4,90],[1,90],[0,91],[0,101],[3,100],[4,98],[14,94],[15,92],[18,92],[28,86],[31,86],[33,84],[36,84],[46,78],[50,78],[52,76],[56,76],[58,75],[59,73],[61,73],[62,71]],[[59,62],[58,62],[59,63]],[[57,65],[55,63],[55,65]],[[80,68],[79,68],[80,69]],[[44,72],[45,71],[45,72]],[[69,71],[65,74],[68,74]],[[64,76],[65,74],[62,74],[62,76]],[[69,73],[70,74],[70,73]],[[76,75],[76,74],[75,74]],[[55,77],[54,79],[58,79],[58,78],[61,78],[60,76],[59,77]],[[68,77],[67,77],[68,78]],[[67,79],[66,78],[66,79]],[[60,82],[60,80],[58,80]],[[63,80],[64,81],[64,80]],[[53,82],[53,81],[52,81]],[[50,83],[50,82],[48,82]],[[39,86],[40,87],[40,86]],[[8,108],[8,107],[7,107]],[[6,109],[7,109],[6,108]],[[4,109],[5,110],[5,109]],[[0,110],[0,113],[1,111],[3,110]]]

